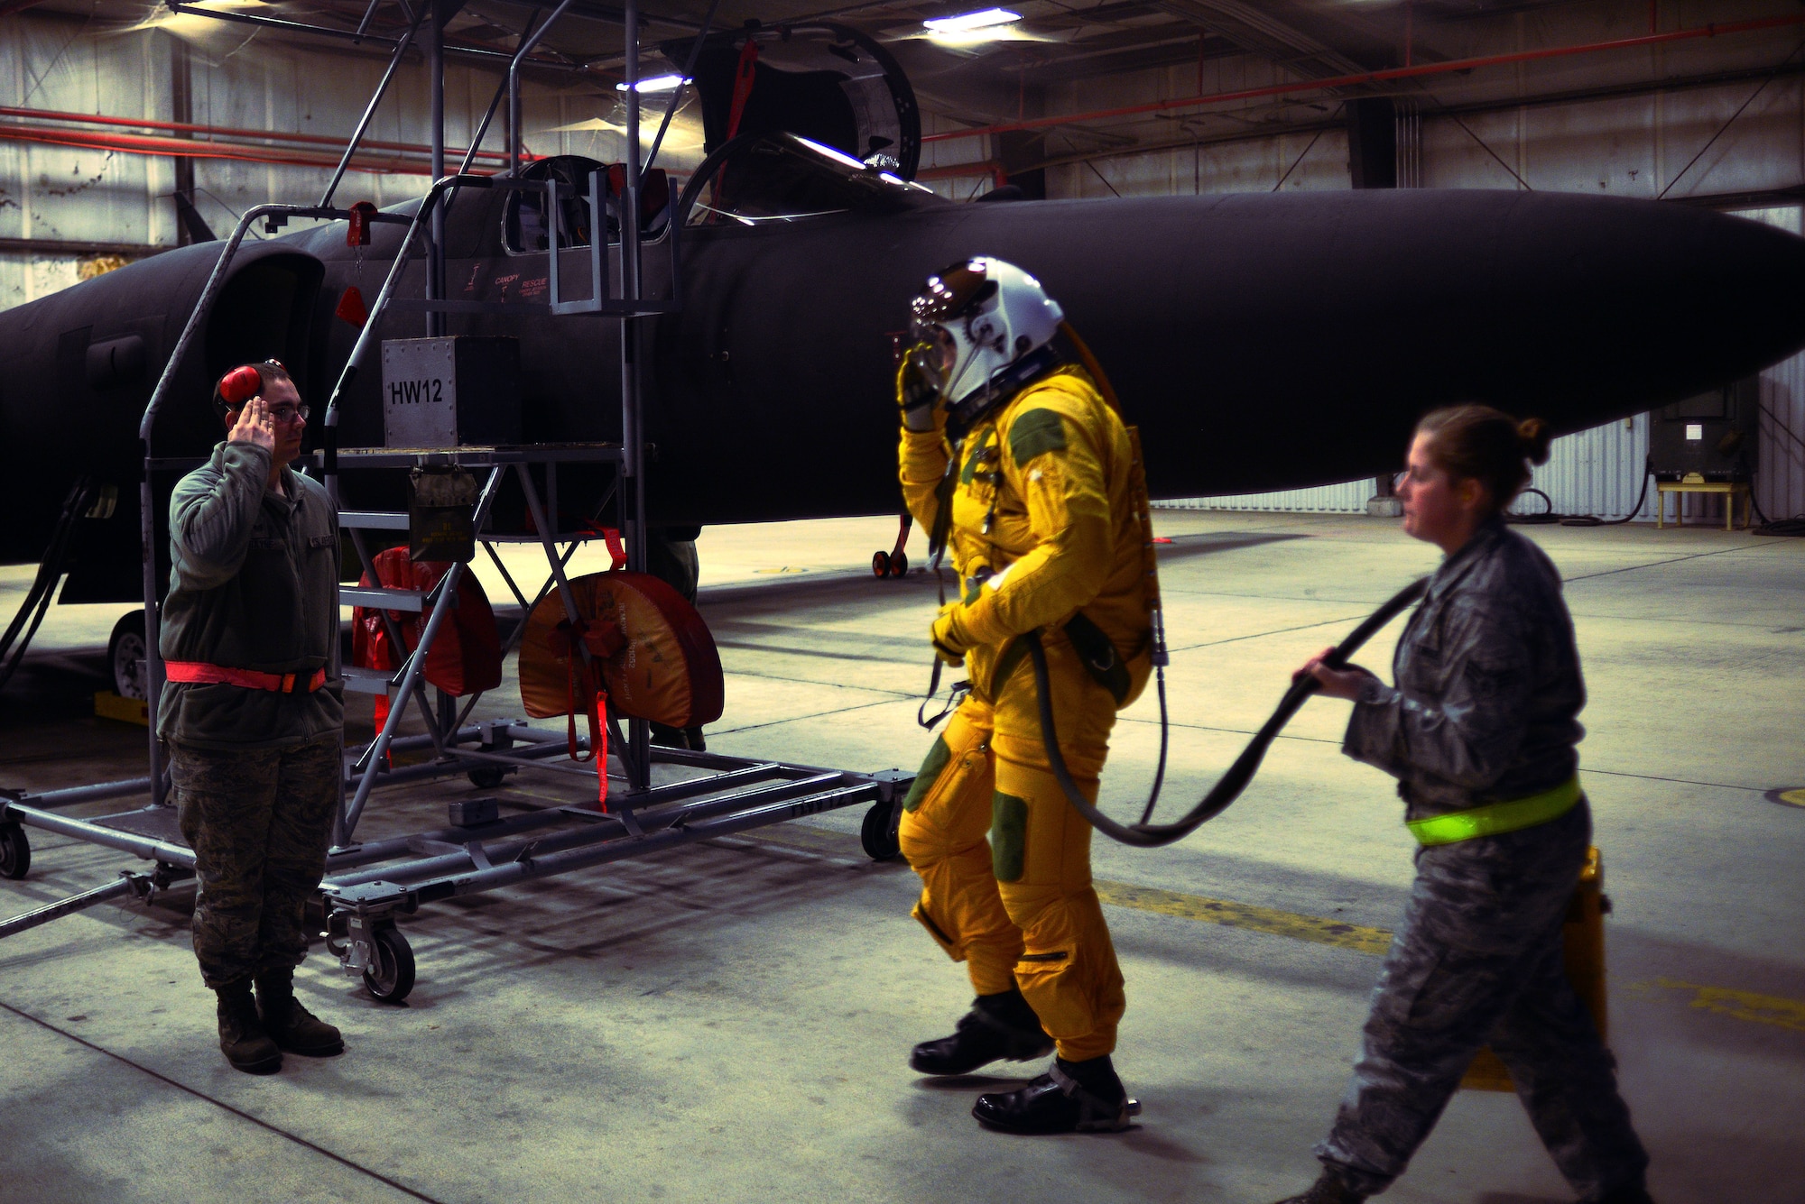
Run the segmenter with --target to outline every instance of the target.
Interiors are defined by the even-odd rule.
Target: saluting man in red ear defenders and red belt
[[[345,1047],[292,982],[307,955],[301,907],[325,874],[345,707],[329,676],[338,515],[325,488],[287,467],[307,418],[294,384],[276,364],[256,368],[255,397],[224,393],[245,369],[215,389],[229,438],[170,499],[157,734],[195,849],[195,957],[218,993],[220,1051],[267,1074],[283,1049]]]

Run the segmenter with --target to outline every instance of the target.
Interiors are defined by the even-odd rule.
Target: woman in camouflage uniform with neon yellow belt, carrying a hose
[[[1421,842],[1321,1179],[1285,1204],[1384,1191],[1487,1042],[1583,1200],[1646,1204],[1648,1155],[1615,1062],[1567,982],[1561,923],[1592,840],[1579,791],[1585,705],[1572,618],[1549,557],[1504,524],[1547,460],[1540,420],[1484,406],[1417,425],[1399,485],[1404,530],[1442,548],[1392,663],[1310,674],[1354,705],[1343,752],[1399,779]]]

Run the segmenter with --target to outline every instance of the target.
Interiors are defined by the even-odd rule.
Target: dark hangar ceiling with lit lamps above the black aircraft
[[[457,5],[457,0],[448,2]],[[408,25],[403,0],[209,0],[206,7],[253,22],[298,22],[339,32],[363,25],[370,34],[390,38]],[[520,32],[549,7],[523,0],[469,0],[448,22],[448,47],[466,58],[498,59],[513,50]],[[1060,114],[1061,105],[1052,96],[1056,88],[1152,68],[1166,68],[1168,78],[1182,79],[1182,68],[1195,63],[1195,96],[1222,90],[1217,87],[1222,72],[1213,72],[1211,67],[1226,59],[1236,63],[1233,76],[1247,88],[1267,81],[1336,81],[1406,65],[1433,68],[1449,59],[1516,50],[1522,47],[1523,18],[1534,20],[1550,9],[1572,11],[1576,5],[1560,0],[1099,0],[1088,5],[1025,0],[1011,9],[1022,16],[1020,22],[975,36],[937,36],[922,25],[928,18],[977,7],[982,7],[982,0],[865,0],[845,5],[821,5],[818,0],[722,0],[715,27],[736,29],[747,22],[854,25],[883,41],[899,59],[930,115],[987,128]],[[177,14],[161,0],[0,0],[0,14],[22,9],[60,13],[79,20],[92,32],[155,25],[200,45],[231,47],[255,31],[258,38],[318,45],[312,36],[283,32],[274,25],[215,23]],[[679,40],[700,29],[709,9],[708,0],[652,0],[643,5],[644,43]],[[1668,32],[1680,27],[1677,9],[1662,20],[1652,7],[1648,20],[1648,31],[1657,23]],[[1596,34],[1578,41],[1648,32],[1639,23],[1612,20],[1608,13],[1592,25]],[[1588,22],[1578,23],[1578,29],[1587,27]],[[1574,38],[1567,41],[1572,43]],[[1664,70],[1653,54],[1632,56],[1628,61],[1623,56],[1610,61],[1594,58],[1594,70],[1579,70],[1583,79],[1563,78],[1545,88],[1545,96],[1534,87],[1525,88],[1513,72],[1448,72],[1245,97],[1233,106],[1065,119],[1061,126],[1067,141],[1078,139],[1081,144],[1090,139],[1099,146],[1213,141],[1273,133],[1289,126],[1309,130],[1339,117],[1339,103],[1356,97],[1390,96],[1430,108],[1484,108],[1572,99],[1578,90],[1587,88],[1646,90],[1655,85],[1722,83],[1738,74],[1771,70],[1778,56],[1769,50],[1778,45],[1780,41],[1745,47],[1747,63],[1718,63],[1713,70],[1684,78]],[[357,52],[348,41],[341,47]],[[375,41],[363,47],[370,54],[383,52],[383,45]],[[619,7],[578,0],[543,40],[534,74],[542,83],[561,90],[592,88],[597,103],[612,105],[612,85],[619,79],[621,63]],[[1785,67],[1796,70],[1794,63]],[[1020,141],[1011,157],[1023,157]]]

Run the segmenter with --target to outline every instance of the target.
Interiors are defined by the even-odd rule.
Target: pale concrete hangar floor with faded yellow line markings
[[[1168,807],[1195,800],[1283,689],[1435,552],[1390,521],[1159,512],[1175,663]],[[879,770],[928,739],[915,696],[933,582],[874,582],[879,519],[702,535],[727,667],[709,746]],[[1612,1045],[1664,1204],[1805,1199],[1805,541],[1525,528],[1567,577],[1592,701],[1587,789],[1606,892]],[[919,537],[910,548],[921,564]],[[27,570],[5,570],[0,604]],[[500,595],[493,588],[491,595]],[[16,600],[0,606],[11,613]],[[141,773],[139,728],[85,716],[116,609],[58,611],[0,696],[0,784]],[[101,613],[105,611],[105,613]],[[1365,656],[1384,665],[1397,625]],[[493,714],[518,714],[511,683]],[[368,725],[368,701],[354,712]],[[330,955],[307,1004],[341,1058],[251,1078],[218,1056],[179,910],[103,905],[0,944],[5,1200],[1233,1200],[1314,1175],[1410,881],[1379,773],[1312,701],[1222,818],[1166,851],[1099,840],[1128,979],[1123,1136],[982,1132],[971,1098],[1034,1072],[924,1081],[912,1042],[969,999],[874,863],[859,811],[475,896],[403,921],[421,982],[386,1008]],[[1105,806],[1152,777],[1157,710],[1117,726]],[[417,829],[455,786],[377,797]],[[509,779],[509,806],[581,784]],[[114,804],[117,809],[117,804]],[[16,914],[130,858],[36,833]],[[1511,1096],[1462,1092],[1386,1197],[1567,1200]]]

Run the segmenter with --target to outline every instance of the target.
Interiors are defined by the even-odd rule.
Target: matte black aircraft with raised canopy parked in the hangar
[[[729,130],[749,36],[764,54]],[[1155,497],[1384,472],[1419,415],[1458,400],[1578,431],[1805,346],[1805,240],[1706,209],[1439,189],[953,204],[910,182],[913,94],[850,29],[718,36],[695,79],[711,153],[680,196],[650,178],[641,214],[646,296],[671,272],[682,285],[679,312],[641,323],[653,524],[897,512],[892,332],[930,272],[973,254],[1020,263],[1065,306],[1143,431]],[[563,290],[587,296],[594,166],[525,168],[569,180],[556,213],[543,193],[462,189],[448,297],[543,299],[552,222]],[[354,247],[332,223],[247,243],[177,364],[159,454],[204,454],[213,380],[265,357],[318,427],[357,335],[339,299],[374,297],[399,240],[383,223]],[[40,559],[78,474],[116,487],[63,600],[139,597],[137,424],[217,260],[191,245],[0,314],[0,562]],[[401,296],[422,287],[417,256]],[[619,440],[621,323],[451,314],[446,330],[518,339],[527,442]],[[421,337],[424,315],[390,312],[377,333]],[[370,362],[339,445],[381,443]]]

